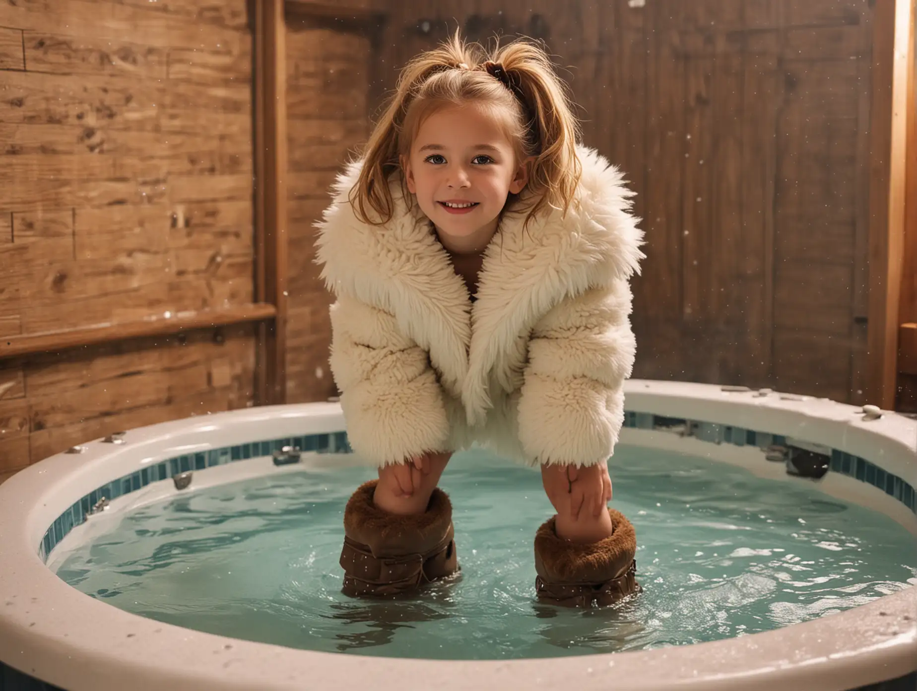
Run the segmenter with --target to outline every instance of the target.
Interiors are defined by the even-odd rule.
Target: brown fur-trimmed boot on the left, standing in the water
[[[344,510],[343,591],[394,596],[458,571],[452,504],[436,487],[426,511],[399,516],[372,503],[378,480],[360,485]]]

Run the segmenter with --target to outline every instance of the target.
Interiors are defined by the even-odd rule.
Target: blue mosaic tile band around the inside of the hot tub
[[[667,418],[653,413],[633,411],[624,413],[624,427],[678,432],[710,443],[756,446],[759,449],[767,449],[772,444],[783,446],[787,443],[786,438],[782,435],[771,434],[770,432],[731,427],[717,422]],[[199,471],[212,468],[215,465],[232,463],[233,461],[270,456],[273,451],[280,451],[284,446],[298,447],[300,451],[314,451],[317,453],[349,453],[351,451],[347,432],[334,432],[285,437],[276,440],[249,441],[237,446],[226,446],[221,449],[212,449],[166,459],[156,465],[124,475],[106,485],[97,487],[79,501],[74,502],[72,507],[65,510],[45,533],[44,539],[39,543],[39,557],[41,561],[47,562],[51,550],[54,549],[58,542],[63,540],[64,536],[74,526],[83,523],[92,507],[102,498],[111,501],[118,496],[136,492],[150,483],[162,482],[170,479],[172,475],[186,471]],[[878,465],[869,463],[865,458],[834,449],[831,451],[829,472],[844,474],[860,482],[878,487],[878,489],[911,509],[914,514],[917,514],[917,492],[914,491],[914,488],[897,475],[886,473]]]

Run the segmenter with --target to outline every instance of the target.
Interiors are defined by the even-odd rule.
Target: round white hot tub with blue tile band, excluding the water
[[[917,422],[767,390],[633,380],[621,442],[740,465],[868,507],[917,548]],[[101,517],[308,463],[356,463],[335,403],[261,407],[94,440],[0,485],[0,681],[93,689],[853,689],[917,681],[917,588],[724,641],[553,659],[444,661],[242,641],[145,619],[64,583],[48,563]],[[298,448],[302,458],[284,449]],[[769,460],[768,460],[769,459]],[[288,463],[290,462],[290,463]],[[788,470],[790,471],[788,473]],[[826,472],[825,472],[826,471]],[[823,475],[812,480],[801,475]],[[639,534],[638,534],[639,539]],[[460,549],[460,548],[459,548]],[[56,552],[57,551],[57,552]],[[2,685],[0,685],[2,686]],[[906,686],[904,686],[906,687]]]

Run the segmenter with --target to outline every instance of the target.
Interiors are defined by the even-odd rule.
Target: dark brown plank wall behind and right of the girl
[[[392,3],[383,61],[545,39],[638,192],[635,376],[857,401],[867,334],[868,0]],[[391,86],[394,70],[386,74]]]

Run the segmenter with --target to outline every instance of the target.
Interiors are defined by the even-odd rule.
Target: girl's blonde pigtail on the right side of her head
[[[582,171],[576,154],[580,124],[573,115],[568,87],[547,53],[525,41],[498,46],[490,64],[503,70],[504,83],[522,102],[528,118],[525,148],[534,162],[526,196],[535,201],[527,209],[526,223],[546,206],[566,213],[575,201]],[[493,73],[493,67],[488,71]]]

